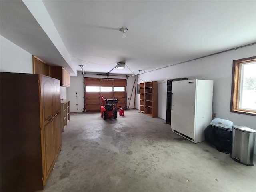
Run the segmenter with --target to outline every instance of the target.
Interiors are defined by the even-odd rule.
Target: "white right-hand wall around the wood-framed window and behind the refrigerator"
[[[167,84],[162,82],[174,78],[209,79],[214,80],[212,112],[216,113],[216,118],[231,120],[235,125],[247,126],[256,130],[255,116],[230,112],[232,62],[252,56],[256,56],[256,45],[141,74],[139,77],[144,81],[159,81],[158,117],[164,120],[166,120]],[[138,106],[137,103],[136,108]],[[256,154],[256,144],[254,153]]]

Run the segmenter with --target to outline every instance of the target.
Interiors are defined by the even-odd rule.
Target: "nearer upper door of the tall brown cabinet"
[[[54,115],[53,78],[41,75],[41,98],[44,125]]]

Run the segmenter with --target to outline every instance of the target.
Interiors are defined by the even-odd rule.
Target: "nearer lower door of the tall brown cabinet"
[[[55,162],[54,120],[44,126],[44,183],[46,182]]]

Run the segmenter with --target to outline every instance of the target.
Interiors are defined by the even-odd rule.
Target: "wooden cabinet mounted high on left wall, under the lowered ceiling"
[[[60,80],[60,86],[70,86],[70,74],[63,67],[50,66],[50,76]]]

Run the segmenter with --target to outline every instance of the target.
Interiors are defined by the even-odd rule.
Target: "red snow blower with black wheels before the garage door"
[[[116,104],[118,99],[105,99],[102,95],[100,96],[103,106],[100,106],[101,117],[104,120],[107,118],[117,118]]]

